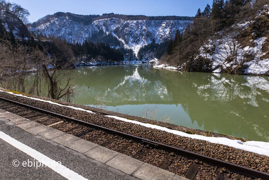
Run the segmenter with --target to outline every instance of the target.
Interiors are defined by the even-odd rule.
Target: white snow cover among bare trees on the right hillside
[[[261,11],[257,12],[255,19],[268,13],[269,6],[266,5]],[[269,51],[267,49],[265,52],[262,52],[262,47],[267,41],[267,37],[251,39],[250,43],[253,43],[253,47],[243,47],[237,41],[238,35],[250,24],[254,23],[255,19],[239,22],[231,28],[219,32],[218,34],[221,38],[214,39],[213,37],[209,39],[207,43],[200,47],[200,53],[197,55],[197,58],[202,56],[210,59],[212,61],[212,70],[214,70],[213,73],[221,73],[225,69],[229,73],[232,70],[241,68],[241,65],[243,65],[242,67],[247,67],[244,70],[244,74],[267,75],[269,73],[269,59],[262,58]],[[213,53],[208,53],[208,51],[213,51]],[[245,58],[246,56],[248,58],[253,56],[253,58],[248,59]]]

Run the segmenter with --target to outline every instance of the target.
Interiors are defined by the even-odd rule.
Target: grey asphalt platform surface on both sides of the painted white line
[[[3,118],[0,118],[0,132],[54,161],[60,161],[64,167],[85,179],[134,179],[101,162],[42,137],[34,136],[12,123],[7,123]],[[18,147],[6,142],[6,135],[3,133],[2,136],[0,135],[0,179],[66,179],[50,167],[37,167],[38,161]],[[18,161],[15,162],[15,160]],[[13,162],[16,166],[19,162],[18,167],[15,167]]]

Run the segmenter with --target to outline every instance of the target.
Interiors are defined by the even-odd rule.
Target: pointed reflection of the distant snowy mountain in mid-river
[[[105,94],[99,97],[101,101],[124,102],[137,101],[145,102],[170,100],[171,94],[168,93],[165,85],[160,81],[149,81],[141,77],[138,68],[133,75],[125,76],[122,82],[113,89],[106,90]]]

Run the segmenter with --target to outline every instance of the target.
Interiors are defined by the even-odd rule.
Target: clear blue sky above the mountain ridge
[[[48,14],[70,12],[90,15],[115,13],[146,16],[195,16],[213,0],[10,0],[30,12],[29,21],[34,22]]]

